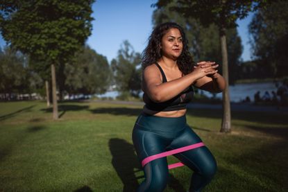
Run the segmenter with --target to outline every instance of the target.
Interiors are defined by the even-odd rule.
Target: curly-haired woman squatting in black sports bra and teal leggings
[[[193,64],[183,28],[171,22],[160,24],[151,33],[143,52],[142,67],[146,105],[133,129],[133,143],[145,174],[138,191],[163,191],[169,175],[167,158],[146,160],[202,143],[186,123],[186,104],[192,100],[192,85],[220,92],[226,83],[217,73],[218,64]],[[194,171],[189,191],[201,191],[216,172],[216,161],[206,146],[174,156]]]

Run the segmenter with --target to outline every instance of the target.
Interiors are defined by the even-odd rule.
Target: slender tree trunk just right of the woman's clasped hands
[[[226,80],[226,89],[223,91],[223,118],[220,132],[231,132],[231,112],[228,82],[228,53],[226,44],[226,28],[221,28],[221,53],[223,78]]]

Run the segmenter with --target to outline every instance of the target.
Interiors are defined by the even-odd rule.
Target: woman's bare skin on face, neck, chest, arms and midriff
[[[215,62],[198,62],[194,70],[183,76],[176,63],[183,50],[180,31],[171,28],[162,37],[162,58],[158,61],[162,67],[167,82],[162,83],[162,75],[155,64],[146,67],[143,72],[142,89],[156,103],[168,101],[177,96],[190,85],[212,92],[221,92],[226,87],[224,78],[217,73],[218,64]],[[178,117],[183,116],[186,110],[171,112],[155,112],[144,107],[144,112],[155,116]]]

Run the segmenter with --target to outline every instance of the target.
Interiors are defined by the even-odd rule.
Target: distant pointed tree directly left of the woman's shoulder
[[[132,96],[139,96],[141,91],[140,62],[140,54],[135,53],[133,46],[127,40],[124,41],[118,51],[117,59],[111,62],[117,90],[122,94],[128,91]]]

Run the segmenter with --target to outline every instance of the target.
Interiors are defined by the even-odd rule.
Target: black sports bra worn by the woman
[[[165,73],[157,62],[156,62],[156,66],[159,68],[162,74],[162,82],[167,82]],[[177,96],[169,99],[168,101],[164,101],[161,103],[155,103],[144,92],[143,101],[144,103],[146,103],[145,106],[149,110],[153,110],[156,112],[170,112],[170,111],[176,111],[176,110],[185,110],[187,103],[192,101],[193,95],[194,95],[193,88],[192,86],[189,86]]]

